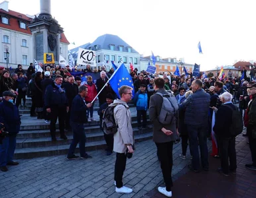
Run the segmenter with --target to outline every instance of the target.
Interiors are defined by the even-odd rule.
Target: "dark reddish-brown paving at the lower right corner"
[[[256,172],[245,168],[251,164],[251,152],[247,138],[239,135],[236,138],[237,174],[228,177],[217,172],[220,160],[210,157],[209,172],[195,173],[191,171],[179,172],[174,176],[173,197],[256,197]],[[178,178],[178,179],[177,179]],[[160,186],[164,186],[162,183]],[[145,197],[165,197],[153,189]]]

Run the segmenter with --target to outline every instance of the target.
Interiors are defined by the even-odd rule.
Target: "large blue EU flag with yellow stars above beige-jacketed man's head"
[[[113,73],[113,75],[109,79],[109,84],[111,88],[115,91],[115,94],[117,94],[118,98],[120,98],[118,92],[119,88],[123,85],[131,86],[131,88],[133,88],[133,96],[135,95],[133,79],[131,79],[131,75],[129,74],[124,64],[117,67],[115,73]]]

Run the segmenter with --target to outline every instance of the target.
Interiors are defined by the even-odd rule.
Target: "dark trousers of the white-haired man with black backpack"
[[[220,141],[219,142],[220,162],[221,162],[222,170],[225,174],[228,174],[229,170],[233,171],[237,169],[235,137],[230,137],[230,138],[220,137],[219,141]]]

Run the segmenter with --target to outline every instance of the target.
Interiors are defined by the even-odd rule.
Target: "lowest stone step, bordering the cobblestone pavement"
[[[143,133],[135,135],[135,142],[145,141],[152,138],[153,133]],[[33,148],[23,148],[15,150],[15,158],[34,158],[42,156],[54,156],[60,154],[67,154],[70,145],[54,145],[50,147],[33,147]],[[86,150],[99,150],[105,148],[105,141],[93,141],[86,143]],[[79,149],[76,148],[76,152],[79,152]]]

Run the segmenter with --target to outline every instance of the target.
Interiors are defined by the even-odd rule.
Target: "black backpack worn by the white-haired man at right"
[[[229,131],[231,135],[237,136],[243,131],[243,117],[241,116],[241,113],[237,107],[235,107],[235,110],[231,108],[231,106],[227,105],[227,107],[232,110],[231,125],[229,127]]]

